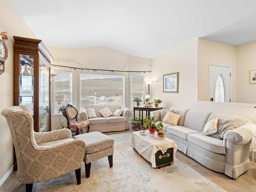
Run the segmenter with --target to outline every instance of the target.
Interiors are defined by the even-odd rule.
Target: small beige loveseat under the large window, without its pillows
[[[104,118],[99,111],[103,108],[108,107],[109,110],[114,113],[117,109],[123,110],[123,113],[120,117],[110,116]],[[95,109],[96,118],[88,118],[87,110],[80,110],[80,117],[82,120],[90,121],[90,132],[114,132],[114,131],[124,131],[129,130],[129,117],[132,115],[131,111],[125,106],[120,106],[116,104],[109,105],[91,105],[87,108]]]

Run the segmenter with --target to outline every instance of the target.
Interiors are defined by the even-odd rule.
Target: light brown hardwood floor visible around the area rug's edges
[[[106,135],[112,134],[121,134],[128,133],[131,131],[123,131],[123,132],[112,132],[105,133]],[[213,183],[219,185],[226,191],[232,192],[253,192],[256,191],[256,164],[250,163],[250,167],[248,172],[241,175],[237,180],[231,179],[224,174],[220,174],[214,172],[205,166],[201,165],[194,159],[186,156],[185,154],[177,151],[176,158],[179,159],[184,164],[196,170],[196,172],[200,173]],[[37,188],[37,184],[35,183],[33,186],[33,191]],[[13,172],[10,177],[6,180],[6,182],[0,187],[0,192],[22,192],[25,191],[25,184],[21,184],[16,180],[16,172]]]

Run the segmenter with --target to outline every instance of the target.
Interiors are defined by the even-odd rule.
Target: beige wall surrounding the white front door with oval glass
[[[198,39],[198,100],[208,101],[208,63],[231,66],[231,101],[236,102],[236,47]]]

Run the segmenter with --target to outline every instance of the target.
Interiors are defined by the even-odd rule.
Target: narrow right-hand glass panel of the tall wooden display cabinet
[[[43,61],[39,66],[39,132],[49,130],[49,76],[50,69]]]

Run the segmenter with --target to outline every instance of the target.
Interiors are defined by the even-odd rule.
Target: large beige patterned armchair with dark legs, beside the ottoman
[[[12,135],[17,157],[17,180],[32,191],[33,183],[57,178],[75,170],[81,183],[81,166],[86,145],[72,139],[68,129],[36,133],[26,106],[12,106],[2,111]]]

